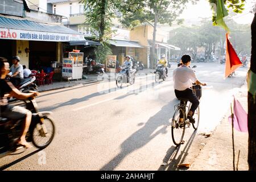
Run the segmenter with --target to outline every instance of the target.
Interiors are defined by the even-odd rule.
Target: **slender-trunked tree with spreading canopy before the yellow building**
[[[121,22],[126,27],[137,26],[148,22],[153,29],[152,47],[150,50],[150,68],[153,68],[155,60],[156,27],[158,23],[169,24],[177,18],[188,2],[195,3],[198,0],[123,0]]]

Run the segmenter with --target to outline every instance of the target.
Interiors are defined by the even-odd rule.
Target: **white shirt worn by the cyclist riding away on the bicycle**
[[[182,65],[181,67],[177,67],[174,70],[174,89],[183,91],[189,87],[192,86],[192,83],[196,82],[196,74],[191,69],[188,68],[185,65]]]

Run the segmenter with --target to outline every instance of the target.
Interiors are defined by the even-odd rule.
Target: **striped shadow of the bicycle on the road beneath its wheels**
[[[166,165],[160,166],[158,168],[158,171],[182,170],[182,168],[177,168],[177,165],[183,163],[185,161],[185,158],[188,156],[189,148],[191,147],[191,144],[193,143],[193,140],[196,137],[196,133],[197,133],[197,130],[195,130],[192,133],[192,135],[189,137],[188,141],[185,143],[184,148],[183,148],[184,144],[181,144],[180,146],[177,146],[177,147],[171,146],[171,148],[169,148],[168,151],[166,152],[166,156],[163,159],[163,163],[166,163]],[[183,149],[181,150],[181,148]]]

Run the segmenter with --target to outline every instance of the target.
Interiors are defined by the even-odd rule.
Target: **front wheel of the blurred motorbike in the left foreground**
[[[32,143],[36,148],[46,148],[55,135],[55,125],[53,119],[46,116],[44,117],[44,126],[36,123],[32,129]]]

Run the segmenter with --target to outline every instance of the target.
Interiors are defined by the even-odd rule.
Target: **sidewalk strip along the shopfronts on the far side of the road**
[[[139,74],[153,74],[155,69],[143,69],[139,70],[137,75]],[[114,73],[109,73],[106,72],[106,74],[109,76],[109,78],[114,78],[115,74]],[[98,75],[85,75],[87,78],[86,79],[81,79],[81,80],[75,80],[75,81],[61,81],[61,82],[53,82],[53,84],[49,85],[40,85],[38,86],[38,92],[46,92],[49,90],[56,90],[56,89],[63,89],[63,88],[68,88],[72,86],[77,86],[77,85],[85,85],[85,84],[93,84],[98,81]]]

